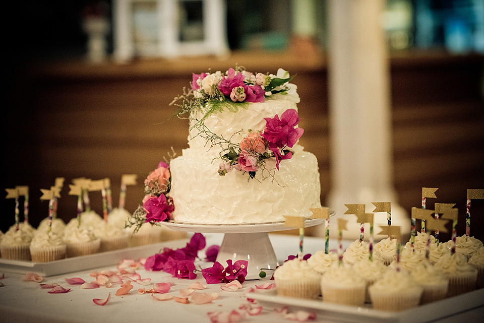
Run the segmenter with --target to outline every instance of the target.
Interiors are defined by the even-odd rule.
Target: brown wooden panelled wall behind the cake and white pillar
[[[171,148],[180,154],[187,147],[187,121],[170,120],[176,109],[169,106],[171,100],[189,85],[192,72],[225,70],[239,62],[251,71],[275,73],[283,67],[297,74],[300,126],[305,128],[301,144],[318,157],[324,203],[331,188],[327,62],[324,56],[300,59],[276,53],[29,67],[13,83],[4,113],[2,184],[30,186],[30,218],[37,225],[47,216],[47,203],[38,200],[40,188],[49,188],[56,177],[66,178],[59,217],[68,221],[76,215],[76,199],[67,187],[73,178],[109,177],[117,206],[120,176],[135,173],[138,185],[128,187],[126,205],[134,211],[143,197],[144,177]],[[466,188],[484,188],[482,67],[482,56],[392,58],[394,178],[405,209],[420,205],[422,186],[439,187],[438,202],[459,203],[461,210]],[[91,200],[102,213],[100,193]],[[14,221],[14,203],[0,203],[5,232]],[[482,204],[474,203],[480,231]]]

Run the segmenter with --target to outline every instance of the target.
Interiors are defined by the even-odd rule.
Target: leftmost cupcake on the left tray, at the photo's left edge
[[[28,223],[19,223],[10,227],[0,242],[0,253],[3,259],[31,260],[30,242],[35,229]]]

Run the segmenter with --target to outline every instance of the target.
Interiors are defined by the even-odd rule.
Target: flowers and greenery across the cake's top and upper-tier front
[[[297,103],[299,97],[296,87],[289,83],[293,78],[283,69],[279,69],[277,75],[270,75],[254,74],[242,67],[230,68],[225,73],[193,74],[191,89],[187,91],[185,88],[184,94],[176,97],[171,104],[180,106],[178,117],[189,115],[191,127],[196,128],[198,136],[210,143],[211,147],[222,147],[222,163],[218,169],[221,176],[236,169],[248,172],[250,178],[254,178],[259,169],[268,170],[265,167],[267,159],[275,158],[275,166],[279,170],[279,163],[292,157],[290,148],[304,132],[302,128],[295,127],[299,122],[297,111],[289,109],[280,116],[264,118],[265,129],[262,132],[249,131],[239,143],[232,143],[230,139],[213,133],[204,120],[214,112],[236,112],[239,108],[245,108],[244,104],[264,102],[266,98],[276,95],[287,95],[288,99]],[[193,109],[202,110],[203,117],[195,119],[191,114]],[[269,171],[269,174],[273,173]]]

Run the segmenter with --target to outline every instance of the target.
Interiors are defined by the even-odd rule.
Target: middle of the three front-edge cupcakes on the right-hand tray
[[[336,263],[321,277],[323,301],[328,303],[362,306],[365,304],[366,286],[365,279],[348,265]]]

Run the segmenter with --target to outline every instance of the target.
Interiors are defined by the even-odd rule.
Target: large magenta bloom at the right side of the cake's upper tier
[[[270,144],[269,147],[283,148],[286,145],[292,147],[302,136],[302,128],[294,128],[299,122],[299,116],[295,109],[288,109],[281,114],[281,118],[276,114],[274,118],[264,118],[266,128],[262,137]]]

